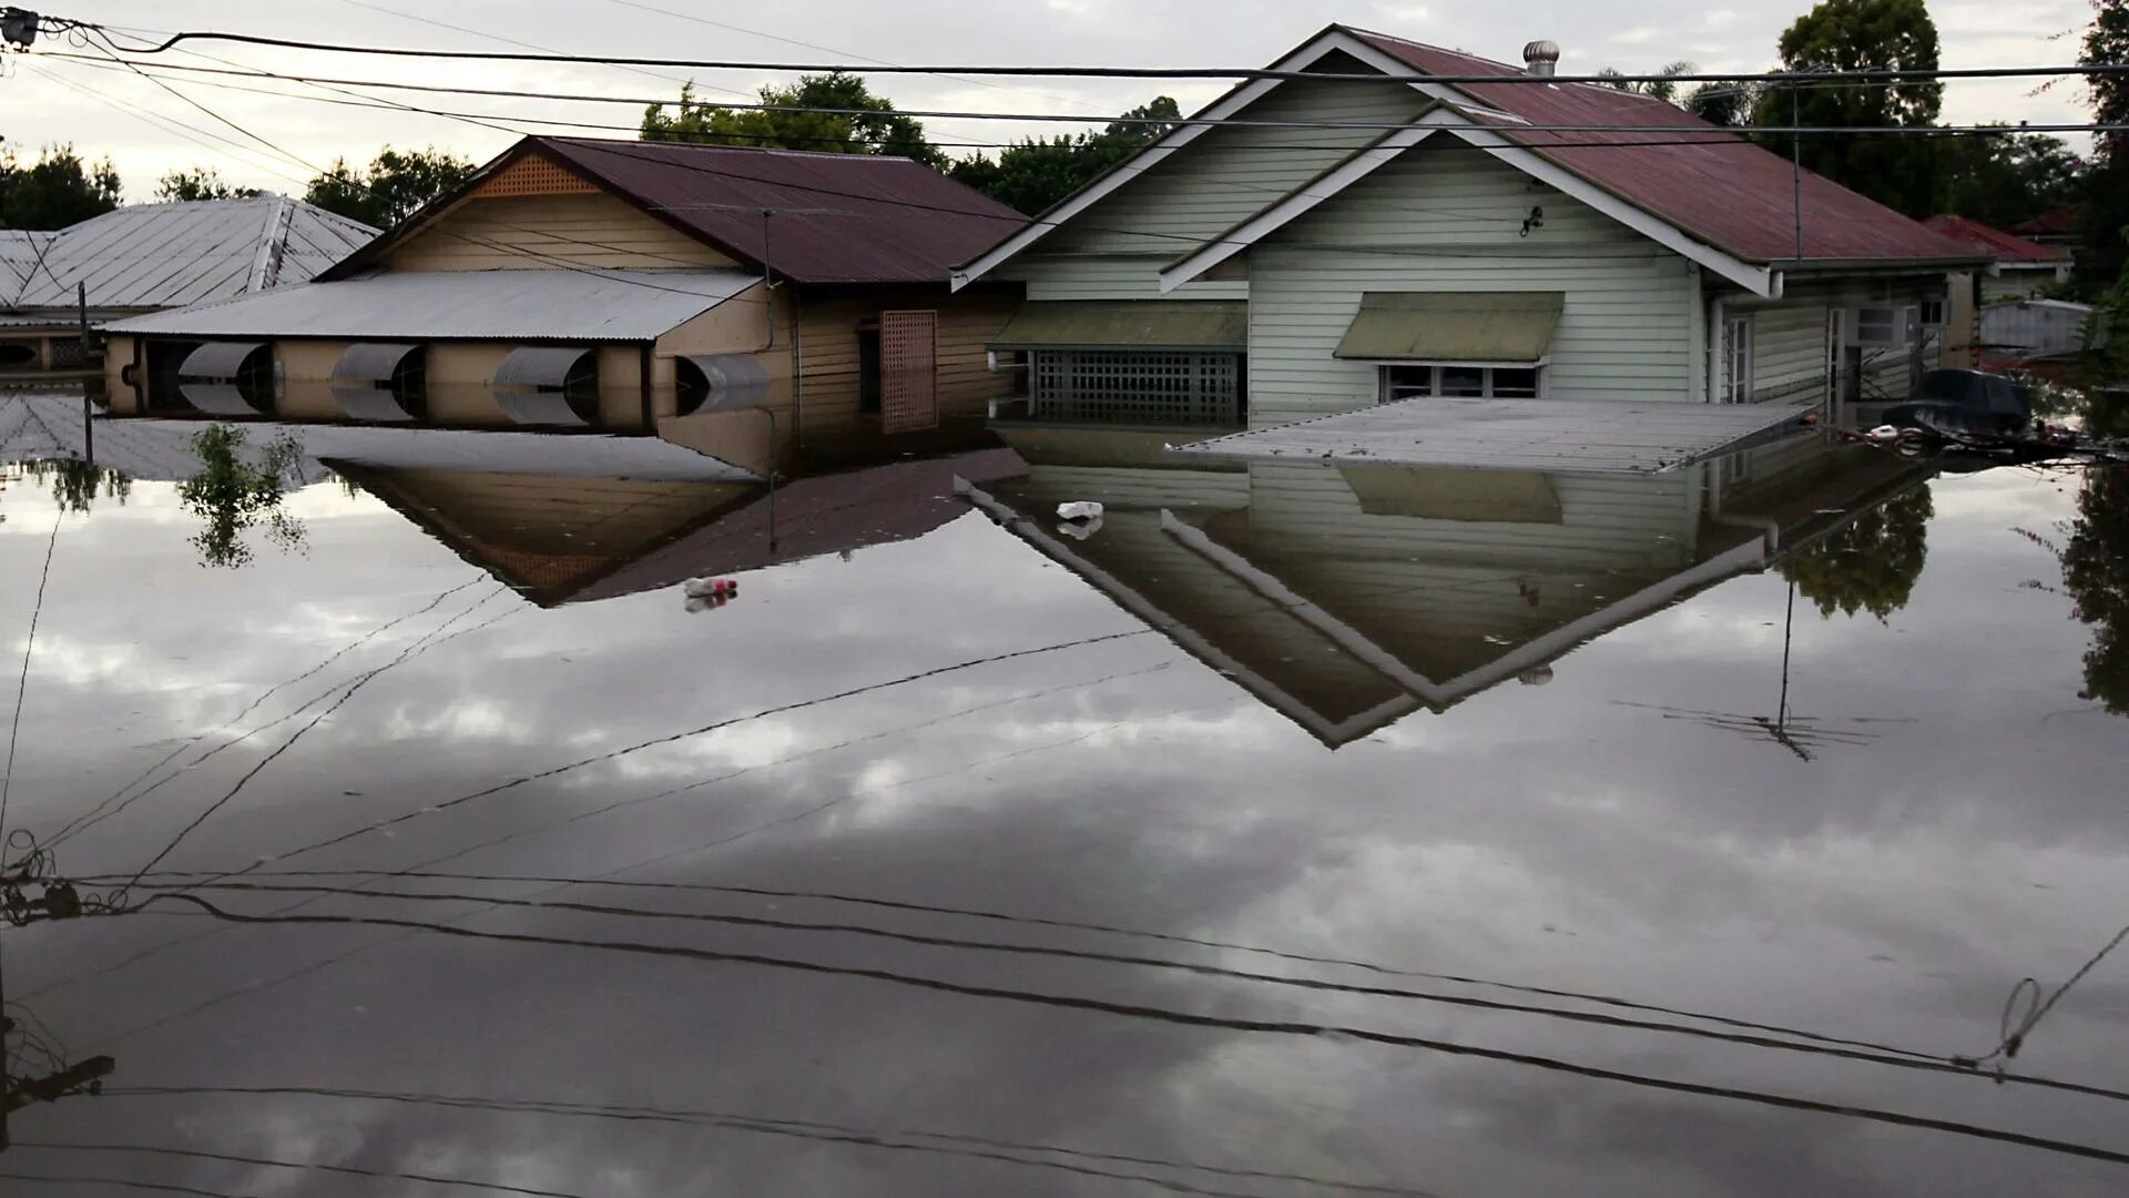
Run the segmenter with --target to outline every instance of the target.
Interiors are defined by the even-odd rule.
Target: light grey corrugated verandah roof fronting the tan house
[[[760,284],[739,271],[413,271],[158,311],[111,333],[351,341],[651,341]]]

